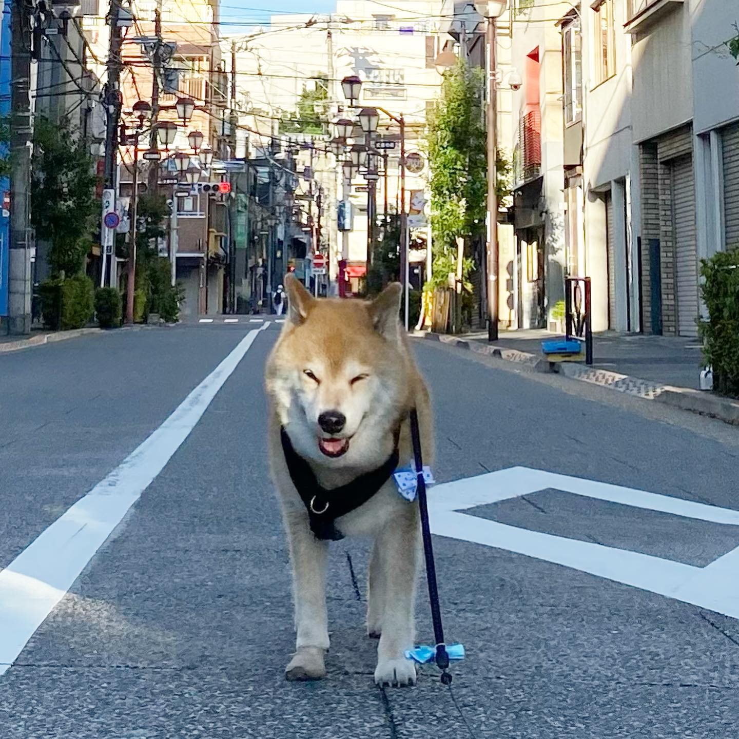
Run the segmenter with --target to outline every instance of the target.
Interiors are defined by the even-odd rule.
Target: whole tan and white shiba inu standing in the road
[[[398,319],[401,285],[372,302],[316,299],[285,279],[288,314],[266,369],[270,466],[290,544],[296,654],[288,680],[324,677],[328,542],[374,539],[367,633],[379,637],[375,682],[411,685],[420,556],[418,502],[392,478],[412,460],[409,411],[432,457],[426,385]]]

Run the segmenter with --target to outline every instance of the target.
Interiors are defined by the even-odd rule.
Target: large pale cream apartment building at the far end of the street
[[[250,129],[253,140],[272,138],[287,146],[293,136],[281,131],[280,121],[295,112],[302,92],[316,85],[323,87],[320,112],[326,120],[354,117],[358,111],[349,108],[341,79],[358,75],[364,83],[359,107],[384,108],[395,118],[403,116],[406,151],[421,154],[421,166],[415,171],[406,170],[406,192],[423,191],[426,109],[437,97],[441,83],[434,64],[440,48],[440,7],[441,3],[434,0],[403,0],[393,7],[372,0],[338,0],[336,13],[327,16],[274,16],[272,26],[264,33],[254,34],[237,46],[239,123]],[[360,134],[356,133],[359,140]],[[378,134],[395,141],[395,149],[386,150],[387,176],[378,181],[378,214],[383,212],[385,202],[389,211],[397,212],[401,189],[397,121],[381,112]],[[336,285],[341,265],[355,289],[367,270],[367,183],[358,175],[344,194],[336,157],[324,152],[329,137],[328,129],[316,132],[313,138],[320,145],[313,149],[313,162],[307,166],[316,182],[314,191],[323,194],[321,231],[331,282]],[[310,153],[302,149],[301,160],[306,151]],[[299,168],[305,171],[304,164]],[[296,196],[299,202],[305,189],[303,184]],[[409,195],[406,197],[407,206]],[[342,200],[350,203],[353,214],[353,228],[343,237],[337,228],[338,203]],[[315,233],[309,230],[305,234],[310,255],[316,247],[312,240]],[[414,243],[419,246],[415,259],[425,257],[427,234],[427,228],[414,234]]]

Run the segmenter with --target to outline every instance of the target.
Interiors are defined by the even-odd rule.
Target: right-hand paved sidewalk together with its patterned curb
[[[695,338],[599,333],[593,336],[593,366],[587,367],[547,361],[542,341],[561,335],[543,329],[504,332],[494,344],[488,344],[487,333],[482,332],[423,336],[739,425],[739,401],[698,390],[702,360]]]

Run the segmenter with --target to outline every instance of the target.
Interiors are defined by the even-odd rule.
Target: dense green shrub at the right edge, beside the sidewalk
[[[706,364],[718,392],[739,397],[739,248],[701,262],[701,296],[708,321],[700,324]]]

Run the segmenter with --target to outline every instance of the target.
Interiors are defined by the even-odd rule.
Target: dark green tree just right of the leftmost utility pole
[[[51,243],[52,273],[78,273],[90,247],[100,208],[98,178],[84,139],[66,120],[36,118],[31,161],[31,222],[37,236]]]

